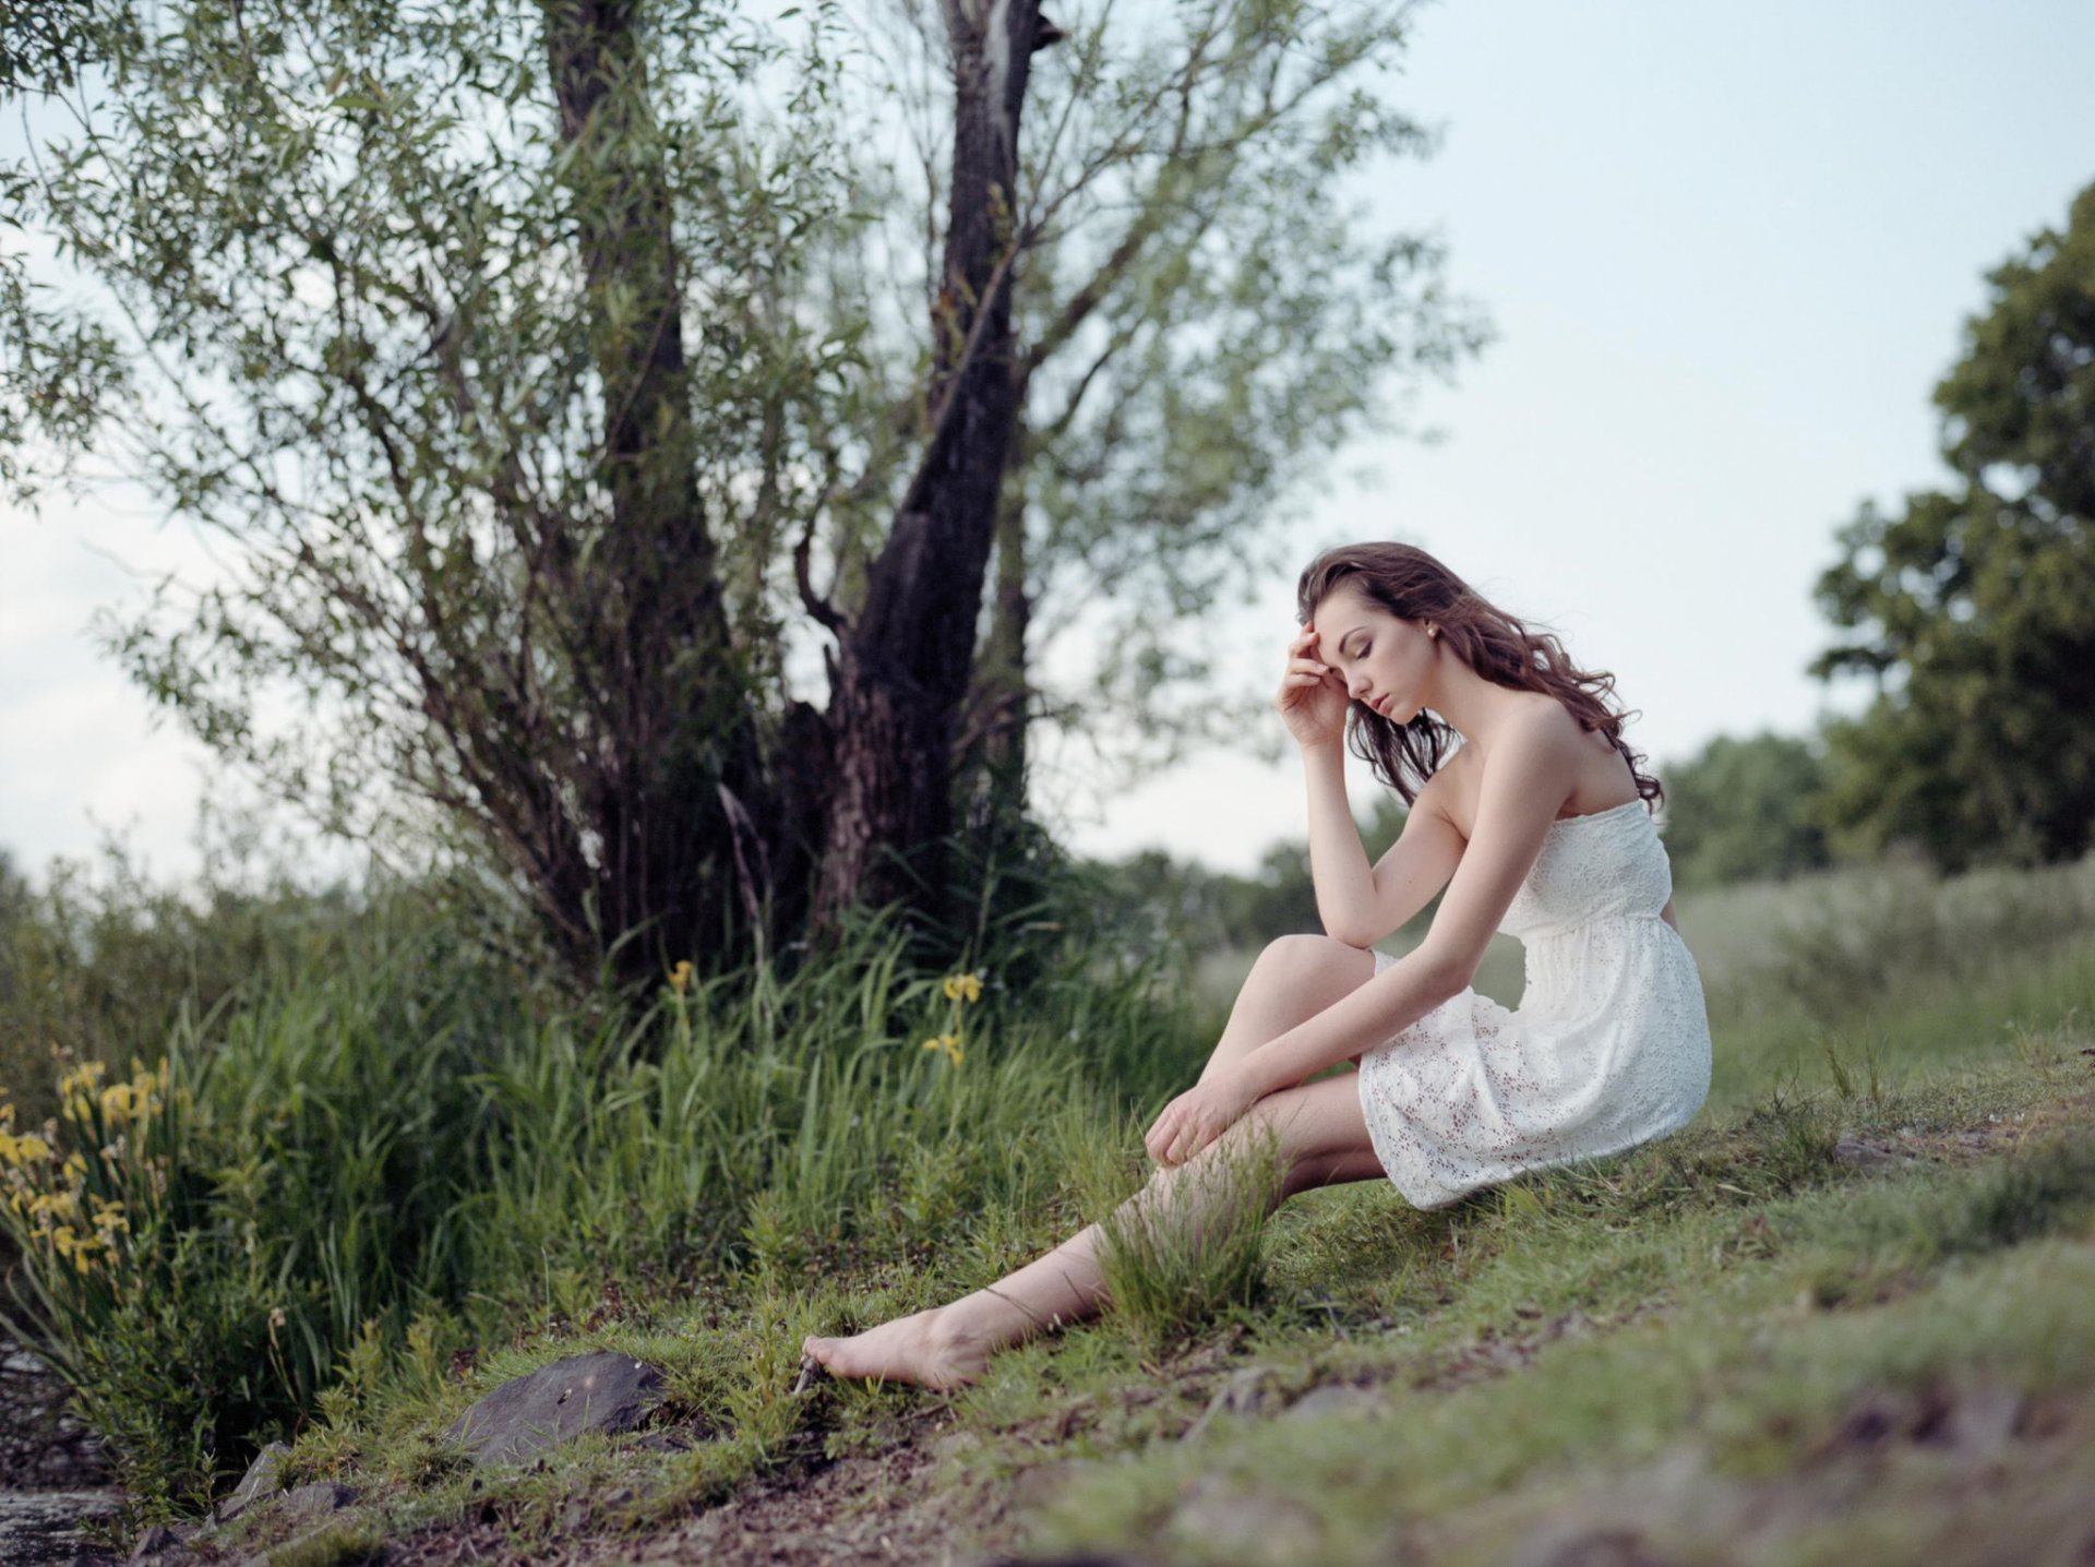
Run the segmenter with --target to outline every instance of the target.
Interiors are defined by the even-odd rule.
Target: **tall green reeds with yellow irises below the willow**
[[[681,968],[641,999],[541,991],[415,888],[358,918],[323,901],[321,945],[283,913],[245,983],[178,1008],[163,1077],[140,1066],[149,1112],[92,1094],[101,1062],[44,1087],[48,1148],[8,1144],[50,1198],[0,1211],[8,1311],[172,1513],[262,1441],[356,1425],[381,1385],[427,1393],[450,1349],[608,1293],[918,1265],[1060,1200],[1068,1123],[1161,1096],[1196,1050],[1169,970],[1129,959],[1081,882],[1058,918],[1018,918],[1033,903],[991,907],[962,974],[865,915],[834,951]],[[228,903],[228,934],[247,918]],[[105,920],[147,924],[115,892]],[[128,1234],[82,1253],[111,1200]]]

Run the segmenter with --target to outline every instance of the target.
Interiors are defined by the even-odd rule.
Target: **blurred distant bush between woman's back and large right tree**
[[[1825,834],[1806,817],[1821,763],[1804,740],[1718,735],[1661,781],[1678,888],[1779,880],[1829,863]]]

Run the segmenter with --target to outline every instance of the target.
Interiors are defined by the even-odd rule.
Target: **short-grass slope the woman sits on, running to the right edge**
[[[913,1272],[656,1303],[312,1431],[297,1475],[375,1506],[285,1559],[473,1529],[559,1552],[587,1515],[737,1561],[719,1531],[677,1548],[727,1498],[769,1521],[752,1538],[809,1529],[844,1559],[882,1559],[882,1533],[1186,1563],[1630,1561],[1632,1538],[1659,1561],[2078,1559],[2095,943],[1904,978],[1831,1035],[1728,991],[1712,1010],[1718,1089],[1689,1131],[1439,1213],[1383,1186],[1309,1194],[1270,1228],[1263,1299],[1169,1351],[1106,1318],[953,1397],[786,1391],[802,1330],[949,1297],[1081,1217],[1001,1213]],[[668,1368],[710,1439],[585,1441],[478,1489],[427,1443],[501,1376],[599,1343]],[[1362,1393],[1286,1412],[1328,1385]],[[1617,1554],[1575,1554],[1609,1536]]]

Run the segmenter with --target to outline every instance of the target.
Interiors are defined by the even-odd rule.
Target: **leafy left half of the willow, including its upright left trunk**
[[[329,827],[499,865],[578,972],[746,943],[727,800],[788,853],[771,574],[859,325],[794,308],[832,8],[80,10],[0,163],[57,251],[0,270],[0,465],[92,448],[233,545],[109,647]]]

